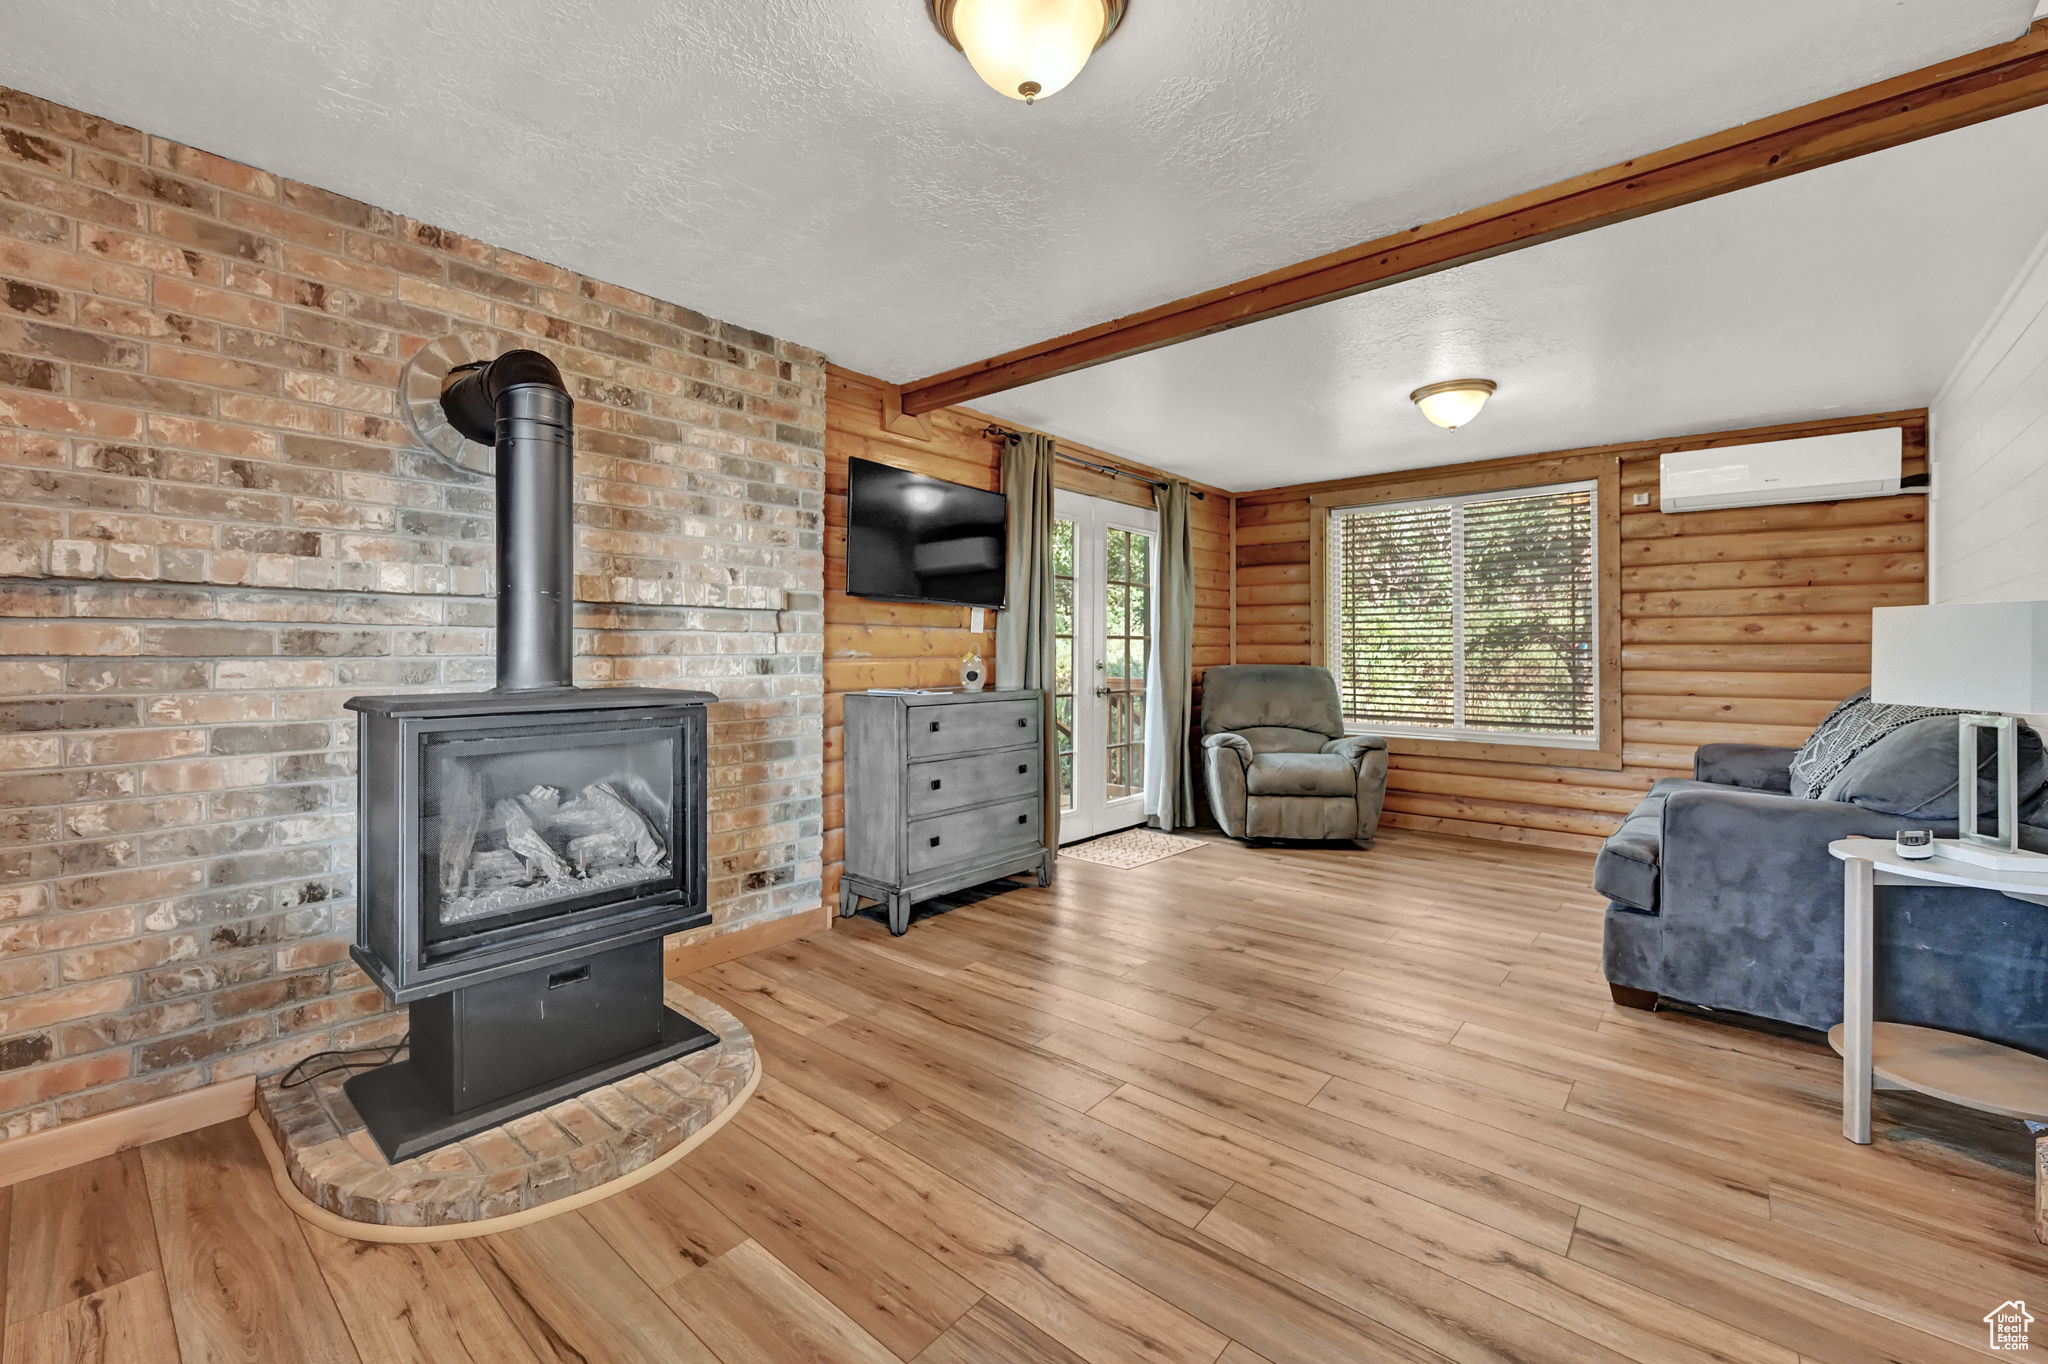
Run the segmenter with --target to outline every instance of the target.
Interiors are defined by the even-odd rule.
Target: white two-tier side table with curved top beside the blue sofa
[[[1907,860],[1888,840],[1841,838],[1841,1022],[1827,1030],[1841,1053],[1841,1135],[1870,1143],[1870,1088],[1917,1090],[1950,1104],[2048,1122],[2048,1059],[1958,1032],[1870,1020],[1872,920],[1878,887],[1948,885],[2048,905],[2048,877],[2028,879],[1948,858]]]

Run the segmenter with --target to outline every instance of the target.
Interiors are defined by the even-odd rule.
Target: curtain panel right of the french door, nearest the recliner
[[[1188,483],[1159,487],[1159,557],[1153,565],[1153,647],[1145,668],[1145,813],[1161,829],[1194,823],[1188,723],[1194,711],[1194,553]]]

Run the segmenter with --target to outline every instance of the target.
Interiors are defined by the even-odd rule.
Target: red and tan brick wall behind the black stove
[[[401,1028],[342,702],[492,676],[457,328],[575,391],[580,680],[723,696],[719,930],[815,911],[823,356],[0,90],[0,1137]]]

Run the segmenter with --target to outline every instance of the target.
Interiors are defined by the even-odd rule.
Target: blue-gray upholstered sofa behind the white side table
[[[1845,702],[1847,705],[1847,702]],[[1792,795],[1800,750],[1708,743],[1608,840],[1606,975],[1659,995],[1806,1028],[1841,1022],[1837,838],[1956,832],[1956,721],[1919,719]],[[1989,776],[1989,760],[1987,760]],[[2042,743],[2021,729],[2021,844],[2048,852]],[[1985,815],[1993,811],[1987,807]],[[1880,891],[1876,1016],[2048,1053],[2048,909],[1995,891]]]

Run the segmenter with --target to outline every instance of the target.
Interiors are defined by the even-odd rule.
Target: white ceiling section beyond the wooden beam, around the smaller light
[[[2048,109],[977,406],[1276,487],[1929,401],[2048,229]],[[1468,426],[1409,391],[1483,377]]]

